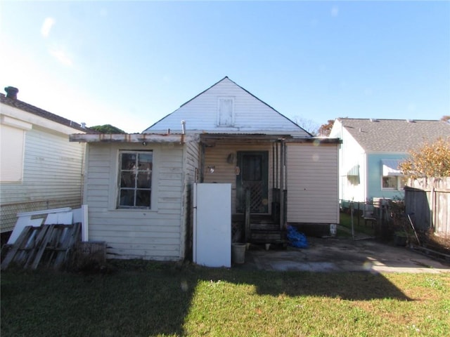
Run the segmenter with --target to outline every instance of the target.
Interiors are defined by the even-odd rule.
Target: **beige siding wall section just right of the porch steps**
[[[337,146],[288,144],[288,223],[339,223]]]

